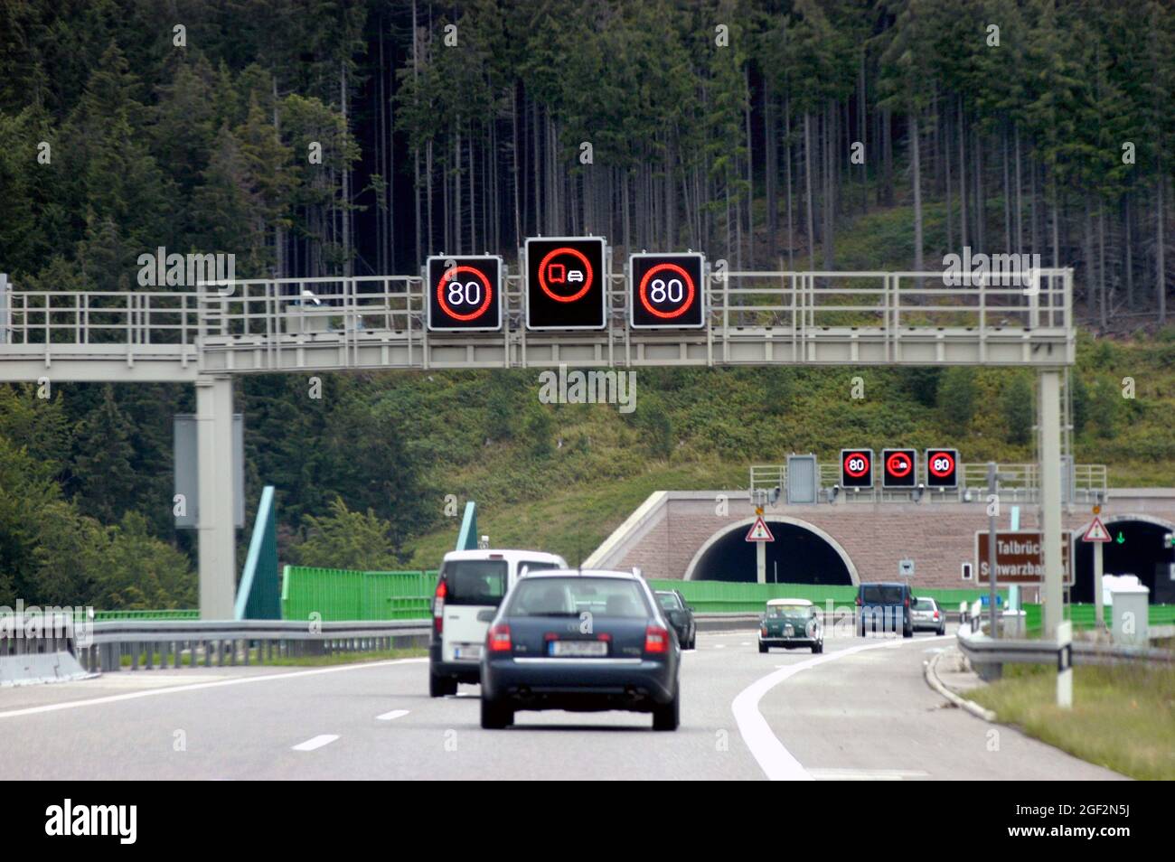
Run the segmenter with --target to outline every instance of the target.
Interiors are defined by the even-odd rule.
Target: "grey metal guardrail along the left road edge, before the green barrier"
[[[87,644],[70,646],[82,667],[96,673],[122,669],[123,656],[132,671],[262,665],[275,658],[423,646],[428,637],[429,625],[419,620],[119,620],[95,622]]]

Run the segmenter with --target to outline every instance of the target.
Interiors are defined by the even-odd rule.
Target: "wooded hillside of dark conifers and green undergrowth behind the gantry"
[[[1133,484],[1175,459],[1173,176],[1173,0],[0,0],[18,289],[137,289],[159,247],[234,254],[239,276],[415,274],[539,233],[738,270],[1035,254],[1075,269],[1077,458]],[[857,418],[793,369],[649,372],[630,418],[542,408],[512,372],[328,376],[314,403],[242,379],[248,511],[277,486],[283,561],[395,567],[427,564],[448,493],[506,507],[649,464],[712,487],[830,423],[1032,456],[1028,378],[868,373],[886,397]],[[704,405],[756,379],[787,405],[750,410],[759,447]],[[194,605],[170,509],[193,400],[0,388],[0,605]]]

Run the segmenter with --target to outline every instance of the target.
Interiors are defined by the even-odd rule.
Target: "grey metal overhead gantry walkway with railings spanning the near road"
[[[429,331],[418,276],[244,278],[127,292],[8,290],[0,379],[28,379],[39,369],[70,379],[78,373],[72,363],[101,362],[147,364],[157,378],[168,373],[161,364],[170,364],[176,379],[559,363],[1072,364],[1072,270],[1035,270],[1030,288],[944,281],[942,272],[718,271],[707,277],[705,326],[633,330],[625,276],[613,272],[603,329],[536,332],[525,328],[525,285],[516,274],[503,291],[502,330],[476,334]]]

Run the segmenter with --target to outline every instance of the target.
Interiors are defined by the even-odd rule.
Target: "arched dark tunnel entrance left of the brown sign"
[[[694,558],[689,580],[725,580],[753,584],[754,543],[745,537],[753,518],[737,524],[710,539]],[[764,517],[774,541],[766,543],[767,582],[833,584],[855,582],[852,560],[837,541],[811,525],[800,521],[773,520]]]

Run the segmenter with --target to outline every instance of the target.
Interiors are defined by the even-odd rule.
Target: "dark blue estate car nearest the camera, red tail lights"
[[[676,730],[680,656],[637,572],[528,572],[490,621],[482,727],[512,725],[521,709],[624,709],[652,713],[654,730]]]

